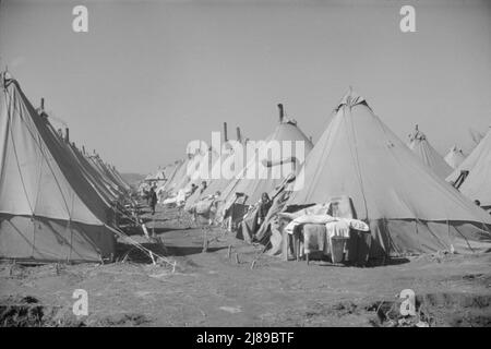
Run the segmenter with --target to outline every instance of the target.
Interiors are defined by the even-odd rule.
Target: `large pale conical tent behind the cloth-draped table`
[[[371,255],[491,246],[491,217],[441,180],[350,92],[306,160],[289,205],[347,195],[367,221]]]

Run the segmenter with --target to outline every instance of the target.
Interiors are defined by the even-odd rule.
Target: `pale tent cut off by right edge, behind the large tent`
[[[469,174],[458,190],[470,200],[479,200],[484,208],[491,208],[491,130],[447,181],[454,182],[463,170]]]

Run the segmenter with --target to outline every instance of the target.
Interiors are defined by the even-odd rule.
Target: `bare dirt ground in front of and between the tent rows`
[[[203,231],[176,217],[159,210],[147,222],[165,249],[133,236],[176,261],[173,273],[134,251],[106,265],[0,264],[0,326],[410,326],[415,317],[398,311],[404,289],[416,292],[418,321],[430,326],[491,326],[491,253],[307,265],[219,228],[202,253]],[[87,316],[72,313],[75,289],[88,293]]]

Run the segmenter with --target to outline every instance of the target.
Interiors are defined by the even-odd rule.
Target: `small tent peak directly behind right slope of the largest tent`
[[[409,148],[440,178],[446,178],[452,172],[452,167],[445,163],[443,157],[431,146],[424,133],[416,127],[415,132],[409,135]]]

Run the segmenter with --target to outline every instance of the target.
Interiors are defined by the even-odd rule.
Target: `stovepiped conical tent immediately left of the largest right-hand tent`
[[[265,140],[263,144],[263,149],[271,149],[272,144],[274,142],[278,142],[278,144],[284,144],[283,142],[289,141],[291,142],[290,149],[291,154],[289,156],[296,156],[296,152],[303,152],[300,154],[303,157],[310,153],[313,148],[312,142],[303,134],[303,132],[297,127],[295,121],[282,121],[278,123],[274,132]],[[297,143],[298,142],[298,143]],[[302,146],[299,146],[302,144]],[[277,185],[279,185],[286,177],[291,173],[280,173],[283,172],[280,165],[273,165],[267,167],[267,173],[263,173],[264,176],[260,176],[259,164],[263,163],[261,159],[261,153],[264,152],[261,148],[256,149],[254,156],[247,163],[244,169],[237,176],[236,179],[232,179],[227,188],[225,188],[224,193],[221,193],[220,198],[223,200],[223,207],[228,207],[236,198],[236,193],[244,193],[248,196],[247,203],[252,205],[255,204],[260,198],[262,193],[272,193]],[[282,154],[284,156],[286,154]],[[267,157],[270,159],[270,157]],[[289,161],[286,157],[283,159],[285,161]],[[275,161],[272,163],[280,163]],[[301,164],[300,164],[301,165]],[[295,164],[296,170],[299,170],[299,164]],[[276,173],[275,173],[276,172]],[[249,173],[252,173],[250,177]],[[279,174],[279,176],[277,176]]]

